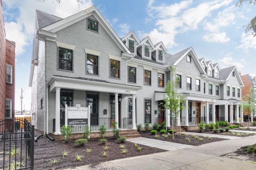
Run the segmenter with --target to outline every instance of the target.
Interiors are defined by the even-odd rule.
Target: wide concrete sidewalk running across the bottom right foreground
[[[87,165],[72,170],[255,170],[256,164],[220,157],[255,142],[256,136],[248,136],[163,153],[117,159],[93,168]]]

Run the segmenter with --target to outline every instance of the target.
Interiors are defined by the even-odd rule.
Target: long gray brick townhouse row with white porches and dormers
[[[243,82],[236,66],[221,69],[198,59],[192,47],[168,54],[163,42],[139,40],[134,31],[120,38],[95,6],[64,19],[39,10],[35,14],[29,86],[37,130],[60,134],[65,105],[76,104],[90,107],[92,130],[100,125],[109,130],[113,121],[123,129],[164,120],[184,127],[243,121]],[[187,105],[180,120],[160,104],[166,82],[174,77]]]

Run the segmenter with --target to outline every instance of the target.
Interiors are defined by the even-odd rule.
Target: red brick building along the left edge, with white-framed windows
[[[6,39],[0,3],[0,119],[5,119],[15,111],[15,42]]]

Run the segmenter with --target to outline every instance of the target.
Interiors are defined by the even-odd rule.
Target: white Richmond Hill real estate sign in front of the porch
[[[89,125],[89,108],[80,107],[67,107],[66,106],[66,115],[65,124],[66,125]]]

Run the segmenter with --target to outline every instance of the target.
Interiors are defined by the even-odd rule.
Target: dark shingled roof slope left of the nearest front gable
[[[38,27],[44,28],[46,26],[49,26],[53,23],[56,23],[59,20],[62,20],[60,17],[56,17],[52,14],[48,14],[46,12],[40,11],[38,9],[35,10],[35,14],[38,21]]]

